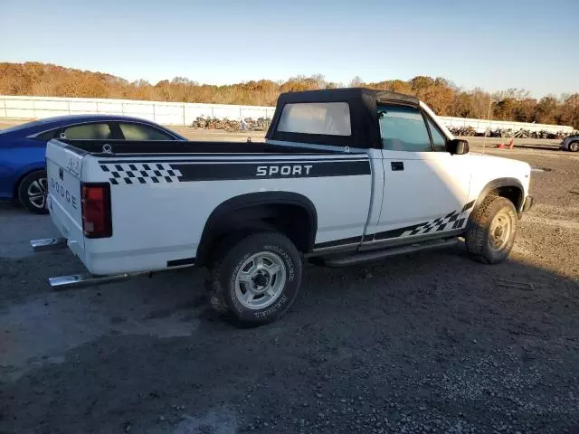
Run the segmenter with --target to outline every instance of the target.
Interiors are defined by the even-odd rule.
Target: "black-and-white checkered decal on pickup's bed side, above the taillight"
[[[166,163],[106,164],[100,169],[113,185],[178,183],[182,176]]]

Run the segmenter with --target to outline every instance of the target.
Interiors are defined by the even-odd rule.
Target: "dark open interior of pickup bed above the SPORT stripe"
[[[337,150],[309,146],[280,146],[265,142],[211,142],[211,141],[127,141],[127,140],[65,140],[70,149],[79,149],[93,156],[109,156],[103,146],[109,145],[113,154],[157,155],[164,154],[343,154]]]

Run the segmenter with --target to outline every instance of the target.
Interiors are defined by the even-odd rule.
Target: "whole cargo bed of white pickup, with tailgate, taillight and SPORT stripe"
[[[103,152],[105,145],[111,152]],[[319,147],[51,140],[48,206],[94,275],[193,265],[211,216],[233,218],[246,203],[299,203],[307,217],[291,217],[289,224],[308,234],[306,251],[359,241],[371,203],[372,162],[365,153]],[[91,197],[99,204],[87,206]]]

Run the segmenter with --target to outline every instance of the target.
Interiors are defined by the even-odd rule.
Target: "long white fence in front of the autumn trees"
[[[0,95],[0,118],[38,119],[75,114],[108,114],[145,118],[159,124],[189,126],[198,118],[272,118],[273,107],[139,101],[133,99],[89,99],[56,97],[14,97]],[[573,127],[500,120],[440,117],[447,127],[486,129],[573,131]]]

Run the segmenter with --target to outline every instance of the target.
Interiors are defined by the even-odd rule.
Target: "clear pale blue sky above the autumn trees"
[[[579,0],[0,0],[0,61],[200,83],[443,77],[579,91]]]

